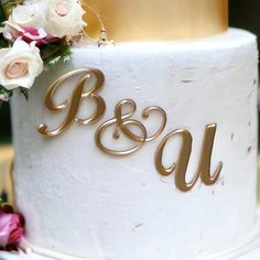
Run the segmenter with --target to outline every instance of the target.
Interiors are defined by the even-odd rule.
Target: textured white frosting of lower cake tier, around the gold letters
[[[256,37],[230,30],[187,42],[77,48],[67,65],[39,78],[29,101],[17,93],[15,191],[28,241],[68,256],[107,260],[189,260],[239,245],[257,219],[257,64]],[[54,127],[64,118],[44,109],[46,88],[80,67],[98,68],[106,76],[100,91],[105,118],[86,127],[74,123],[54,139],[42,138],[36,132],[40,123]],[[61,94],[66,95],[68,90]],[[94,136],[126,98],[137,102],[139,118],[148,106],[161,106],[167,126],[137,154],[113,159],[97,149]],[[174,129],[191,131],[192,176],[209,123],[218,126],[212,169],[224,162],[220,180],[214,186],[199,181],[192,192],[182,193],[173,175],[156,173],[156,148]],[[178,150],[172,142],[166,162],[173,162]]]

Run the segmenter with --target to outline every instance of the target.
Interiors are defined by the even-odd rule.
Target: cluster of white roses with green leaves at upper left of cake
[[[78,0],[9,0],[0,4],[0,104],[28,89],[82,41],[86,23]]]

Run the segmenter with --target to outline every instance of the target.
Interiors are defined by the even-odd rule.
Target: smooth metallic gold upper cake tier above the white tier
[[[94,39],[100,34],[101,23],[108,39],[117,42],[203,37],[228,28],[228,0],[83,2],[87,10],[86,31]]]

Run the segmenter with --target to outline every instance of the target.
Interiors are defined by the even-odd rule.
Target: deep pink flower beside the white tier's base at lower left
[[[0,199],[0,250],[18,250],[24,234],[24,218]]]

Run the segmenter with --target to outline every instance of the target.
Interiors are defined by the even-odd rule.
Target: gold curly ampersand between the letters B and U
[[[128,107],[128,109],[130,109],[130,111],[128,111],[123,115],[122,110],[123,110],[123,108],[127,108],[127,107]],[[149,108],[144,109],[142,112],[143,119],[148,119],[151,112],[159,112],[160,116],[162,117],[162,124],[161,124],[160,129],[155,133],[151,134],[150,137],[148,136],[147,128],[144,127],[143,123],[141,123],[140,121],[138,121],[136,119],[131,119],[131,117],[134,115],[136,110],[137,110],[136,102],[132,100],[129,100],[129,99],[124,99],[116,106],[115,118],[106,121],[105,123],[102,123],[98,128],[98,130],[96,132],[96,137],[95,137],[96,144],[104,153],[106,153],[108,155],[112,155],[112,156],[124,156],[124,155],[132,154],[132,153],[137,152],[145,142],[153,141],[162,133],[162,131],[164,130],[164,128],[166,126],[166,113],[162,108],[149,107]],[[113,139],[115,140],[120,138],[120,131],[121,131],[126,138],[136,142],[136,145],[128,149],[128,150],[123,150],[123,151],[117,151],[117,150],[111,150],[111,149],[106,148],[102,144],[101,138],[102,138],[102,134],[105,133],[105,131],[113,124],[116,124],[116,128],[113,131]],[[141,134],[140,136],[136,134],[133,131],[130,130],[129,127],[138,128],[140,130]]]

